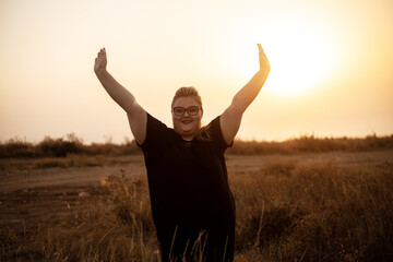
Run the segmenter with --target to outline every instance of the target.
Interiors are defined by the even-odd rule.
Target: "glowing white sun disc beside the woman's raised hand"
[[[275,93],[296,95],[317,88],[333,69],[330,47],[318,35],[286,32],[266,47]]]

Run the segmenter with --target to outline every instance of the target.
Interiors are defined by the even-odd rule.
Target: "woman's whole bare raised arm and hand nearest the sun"
[[[253,102],[261,91],[270,72],[270,64],[263,48],[258,44],[260,70],[235,95],[230,106],[221,116],[221,128],[224,140],[230,144],[237,134],[242,114]]]

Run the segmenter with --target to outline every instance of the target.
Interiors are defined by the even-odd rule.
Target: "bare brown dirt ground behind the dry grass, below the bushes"
[[[124,160],[126,159],[126,160]],[[266,163],[334,163],[378,165],[392,162],[393,151],[297,155],[227,155],[229,177],[258,172]],[[103,183],[110,175],[145,174],[142,155],[121,156],[104,166],[34,168],[37,159],[0,159],[0,226],[28,230],[74,219],[106,198]],[[7,168],[3,168],[7,167]],[[22,168],[21,168],[22,167]],[[230,178],[229,178],[230,179]],[[105,202],[105,201],[104,201]]]

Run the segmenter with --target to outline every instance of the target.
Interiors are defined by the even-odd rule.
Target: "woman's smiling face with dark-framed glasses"
[[[172,109],[175,107],[189,108],[192,106],[201,107],[192,96],[184,96],[176,98],[172,104]],[[195,116],[191,116],[187,110],[182,116],[176,116],[174,110],[172,121],[174,121],[174,130],[181,135],[181,138],[186,141],[191,141],[198,133],[201,128],[201,120],[203,116],[202,108],[198,111]]]

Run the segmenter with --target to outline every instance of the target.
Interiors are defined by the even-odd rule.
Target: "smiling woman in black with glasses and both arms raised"
[[[147,170],[151,205],[163,261],[233,261],[235,201],[228,186],[225,150],[233,144],[242,114],[257,97],[270,72],[258,44],[260,70],[229,107],[201,128],[203,107],[194,87],[177,91],[174,129],[147,114],[135,97],[106,70],[100,49],[94,71],[110,97],[128,116]]]

